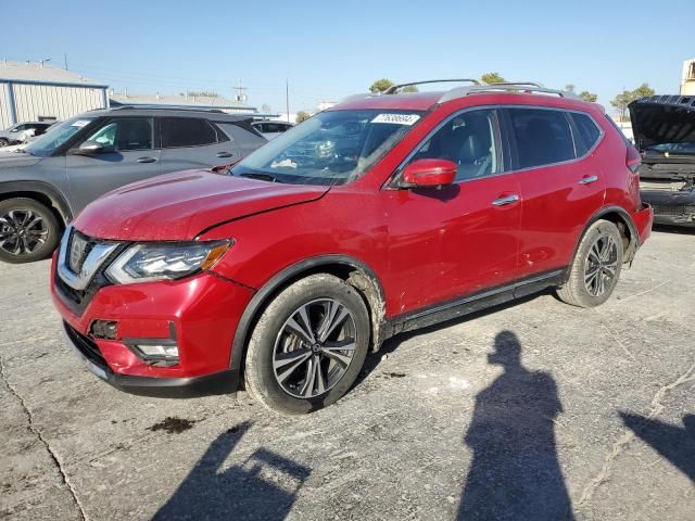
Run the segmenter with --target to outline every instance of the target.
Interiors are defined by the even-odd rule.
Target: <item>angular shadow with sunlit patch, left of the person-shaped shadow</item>
[[[222,470],[250,427],[243,422],[217,436],[153,519],[285,519],[311,469],[260,448]]]

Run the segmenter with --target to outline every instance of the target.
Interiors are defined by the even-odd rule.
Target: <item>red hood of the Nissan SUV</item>
[[[89,204],[75,227],[127,241],[191,240],[223,223],[319,199],[329,187],[188,170],[127,185]]]

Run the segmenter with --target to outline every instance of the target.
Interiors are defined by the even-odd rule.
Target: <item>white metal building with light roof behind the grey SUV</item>
[[[106,87],[47,63],[0,61],[0,128],[105,109]]]

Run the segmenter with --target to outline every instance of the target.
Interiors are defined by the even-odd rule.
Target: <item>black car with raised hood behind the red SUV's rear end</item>
[[[695,97],[650,96],[629,109],[642,201],[657,224],[695,226]]]

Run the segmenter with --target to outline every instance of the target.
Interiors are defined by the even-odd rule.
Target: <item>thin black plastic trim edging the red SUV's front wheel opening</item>
[[[249,339],[249,335],[251,334],[252,327],[256,318],[258,317],[258,312],[261,312],[261,309],[263,309],[263,307],[268,303],[269,297],[280,288],[282,288],[287,282],[295,278],[300,274],[328,265],[342,265],[352,267],[355,270],[363,271],[369,279],[374,288],[377,290],[378,298],[380,300],[382,305],[386,305],[386,297],[381,281],[377,277],[376,272],[363,260],[351,257],[349,255],[329,254],[309,257],[307,259],[292,264],[279,274],[273,276],[270,280],[263,284],[263,287],[257,290],[251,297],[251,301],[247,305],[247,308],[241,314],[241,318],[239,319],[239,323],[237,325],[237,330],[231,342],[231,355],[229,360],[229,368],[235,373],[240,372],[242,369],[242,360],[247,347],[247,341]],[[374,306],[371,302],[370,305]],[[371,313],[374,315],[375,310],[371,309]],[[381,319],[383,319],[383,317],[381,317]],[[372,325],[375,331],[380,331],[381,327],[381,323],[376,326]],[[378,339],[375,340],[378,341]]]

